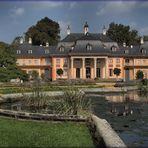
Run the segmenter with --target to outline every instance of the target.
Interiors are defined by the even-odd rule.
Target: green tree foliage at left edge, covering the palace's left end
[[[16,65],[15,46],[0,42],[0,82],[20,78],[27,80],[28,75]]]

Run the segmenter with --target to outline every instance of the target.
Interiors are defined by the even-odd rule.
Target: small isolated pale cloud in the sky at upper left
[[[24,8],[13,8],[10,10],[11,11],[11,16],[12,17],[18,17],[18,16],[22,16],[25,13],[25,9]]]

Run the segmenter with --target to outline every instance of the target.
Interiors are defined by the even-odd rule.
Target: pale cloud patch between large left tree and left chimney
[[[70,25],[71,26],[71,23],[70,22],[64,22],[64,21],[58,21],[59,25],[60,25],[60,35],[61,35],[61,38],[65,37],[67,32],[67,26]]]

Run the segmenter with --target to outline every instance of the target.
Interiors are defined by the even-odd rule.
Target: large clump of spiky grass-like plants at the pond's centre
[[[62,101],[59,102],[57,111],[65,115],[78,115],[90,110],[90,100],[87,100],[85,93],[74,87],[65,90],[62,96]],[[60,97],[61,99],[61,97]]]

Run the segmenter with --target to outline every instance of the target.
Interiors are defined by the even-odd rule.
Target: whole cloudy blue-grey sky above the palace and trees
[[[92,33],[115,22],[148,35],[148,1],[0,1],[0,41],[11,43],[44,17],[59,23],[61,39],[67,25],[81,33],[86,21]]]

